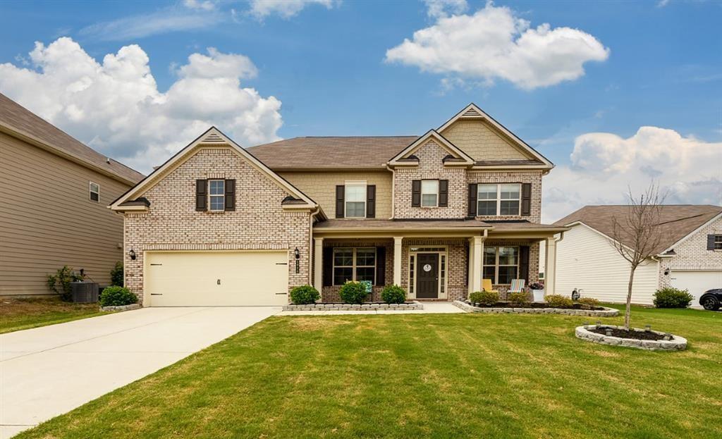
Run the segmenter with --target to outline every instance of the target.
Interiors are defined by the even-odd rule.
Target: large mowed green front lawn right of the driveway
[[[19,438],[722,437],[722,313],[635,308],[684,352],[582,342],[585,320],[269,318]]]

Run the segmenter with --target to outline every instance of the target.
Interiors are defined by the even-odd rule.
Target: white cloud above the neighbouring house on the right
[[[544,221],[559,220],[587,204],[625,204],[654,179],[669,190],[669,204],[722,204],[722,142],[643,126],[624,139],[616,134],[578,136],[571,165],[544,178]]]

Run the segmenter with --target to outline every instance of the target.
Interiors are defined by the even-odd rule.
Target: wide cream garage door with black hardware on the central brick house
[[[286,251],[149,252],[149,306],[285,305]]]

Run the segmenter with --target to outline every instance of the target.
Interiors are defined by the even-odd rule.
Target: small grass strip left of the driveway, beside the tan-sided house
[[[58,297],[0,298],[0,334],[102,314],[97,303],[68,303]]]

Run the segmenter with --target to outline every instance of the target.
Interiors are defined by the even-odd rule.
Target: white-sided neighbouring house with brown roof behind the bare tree
[[[557,292],[604,302],[627,300],[630,267],[612,245],[613,219],[624,225],[628,206],[587,206],[555,224],[569,227],[557,243]],[[689,290],[692,306],[710,288],[722,288],[722,207],[665,205],[656,256],[635,271],[632,303],[649,305],[661,287]],[[623,242],[631,246],[632,243]]]

